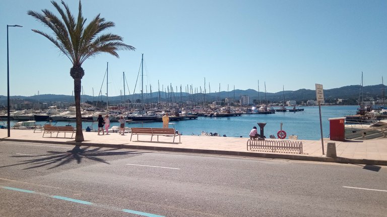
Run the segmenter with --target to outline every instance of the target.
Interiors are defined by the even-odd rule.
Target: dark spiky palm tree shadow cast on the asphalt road
[[[137,151],[116,151],[118,149],[102,149],[101,147],[92,148],[90,147],[81,148],[80,146],[75,146],[72,150],[66,152],[59,151],[47,151],[48,155],[37,155],[37,156],[12,156],[15,158],[31,158],[34,159],[23,160],[21,163],[0,166],[9,167],[16,165],[29,165],[32,164],[34,166],[27,167],[25,169],[33,169],[38,167],[43,167],[47,165],[53,165],[48,169],[53,169],[65,164],[69,164],[71,162],[77,161],[78,164],[82,162],[83,159],[98,161],[101,163],[109,164],[106,160],[102,159],[103,156],[115,156],[115,155],[128,155],[128,154],[139,154]],[[37,157],[37,158],[36,158]]]

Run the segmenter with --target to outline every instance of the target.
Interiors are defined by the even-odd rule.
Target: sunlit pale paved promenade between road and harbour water
[[[42,135],[43,132],[34,133],[33,130],[11,129],[11,137],[7,138],[7,129],[0,129],[0,140],[2,141],[76,145],[75,139],[69,138],[71,137],[71,133],[66,133],[67,138],[64,138],[64,133],[59,133],[58,138],[55,137],[56,133],[52,134],[53,137],[49,137],[49,134],[45,134],[43,138]],[[247,138],[182,135],[181,143],[179,143],[178,137],[175,138],[175,143],[172,143],[172,137],[164,136],[159,136],[159,142],[154,142],[157,141],[156,136],[154,136],[153,142],[150,142],[150,136],[139,136],[139,139],[141,140],[141,142],[139,142],[137,141],[136,135],[134,135],[132,141],[130,141],[130,133],[125,134],[124,136],[119,135],[118,133],[109,133],[109,135],[105,134],[103,136],[98,136],[96,132],[83,132],[83,135],[85,141],[81,143],[82,146],[387,165],[387,138],[345,142],[330,141],[328,138],[325,138],[325,154],[327,154],[328,143],[334,142],[336,144],[337,157],[331,158],[326,155],[322,155],[321,140],[296,140],[302,142],[303,144],[303,153],[298,154],[296,152],[282,151],[247,151]]]

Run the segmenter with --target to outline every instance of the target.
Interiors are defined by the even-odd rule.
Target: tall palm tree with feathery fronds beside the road
[[[47,34],[39,30],[32,30],[50,40],[59,50],[66,55],[73,63],[70,69],[70,75],[74,79],[74,96],[77,115],[77,133],[76,142],[83,142],[82,118],[81,118],[81,79],[85,75],[82,63],[91,56],[100,53],[109,53],[119,57],[118,50],[135,50],[133,46],[123,43],[122,37],[111,33],[100,34],[102,31],[114,27],[113,22],[105,21],[98,14],[88,25],[85,25],[86,19],[82,16],[81,1],[79,1],[78,18],[75,20],[69,7],[61,1],[64,11],[60,6],[51,1],[51,4],[59,12],[59,17],[55,16],[47,9],[42,13],[28,11],[27,14],[36,18],[37,21],[49,27],[53,33]]]

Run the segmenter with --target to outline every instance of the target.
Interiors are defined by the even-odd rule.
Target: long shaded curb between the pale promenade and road
[[[166,151],[166,152],[182,152],[182,153],[195,153],[195,154],[215,154],[226,156],[241,156],[241,157],[261,157],[261,158],[277,158],[288,160],[302,160],[302,161],[320,161],[320,162],[334,162],[334,163],[347,163],[347,164],[373,164],[387,166],[387,161],[384,160],[370,160],[370,159],[351,159],[343,157],[312,157],[312,156],[299,156],[299,155],[284,155],[275,153],[263,153],[263,152],[238,152],[238,151],[221,151],[221,150],[208,150],[208,149],[187,149],[187,148],[172,148],[172,147],[156,147],[156,146],[138,146],[138,145],[113,145],[113,144],[95,144],[85,142],[52,142],[52,141],[38,141],[38,140],[21,140],[21,139],[8,139],[5,138],[0,141],[13,141],[13,142],[31,142],[31,143],[54,143],[62,145],[79,145],[79,146],[93,146],[93,147],[108,147],[117,149],[138,149],[138,150],[152,150],[152,151]]]

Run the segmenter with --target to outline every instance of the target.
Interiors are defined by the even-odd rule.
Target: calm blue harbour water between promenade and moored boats
[[[321,106],[322,136],[329,138],[330,135],[330,118],[345,117],[356,113],[357,105],[333,105]],[[320,121],[318,106],[305,106],[303,112],[276,112],[268,115],[242,115],[236,117],[198,117],[197,120],[185,120],[170,122],[169,127],[175,128],[182,135],[201,135],[204,133],[217,133],[220,136],[227,137],[244,137],[248,134],[253,126],[260,133],[260,127],[257,123],[266,123],[264,135],[269,138],[270,135],[277,137],[277,132],[282,130],[286,132],[288,138],[290,135],[296,135],[301,140],[319,140],[321,139]],[[13,126],[17,121],[12,121]],[[44,125],[46,122],[37,122],[36,124]],[[56,126],[72,125],[75,122],[58,122]],[[111,122],[110,127],[119,126],[117,122]],[[98,129],[96,122],[83,122],[82,128]],[[125,127],[155,127],[161,128],[161,122],[149,123],[126,123]]]

